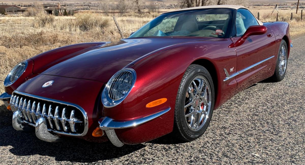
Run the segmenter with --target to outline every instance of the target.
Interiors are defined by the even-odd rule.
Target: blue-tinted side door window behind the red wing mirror
[[[253,14],[247,9],[238,9],[235,20],[236,36],[243,35],[253,25],[259,25]]]

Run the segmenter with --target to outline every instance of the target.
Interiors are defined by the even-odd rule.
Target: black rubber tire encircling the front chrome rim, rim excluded
[[[210,85],[209,98],[211,97],[210,100],[211,102],[209,104],[210,113],[206,115],[208,116],[208,118],[206,119],[205,124],[202,123],[203,126],[199,130],[193,131],[189,127],[189,124],[187,123],[185,118],[185,113],[186,113],[185,109],[187,109],[185,108],[185,99],[189,86],[191,85],[193,79],[195,79],[198,76],[203,76],[208,81]],[[180,139],[183,141],[192,141],[199,138],[206,131],[206,129],[210,124],[210,120],[213,114],[214,96],[215,95],[214,95],[213,80],[207,69],[201,65],[196,65],[196,64],[192,64],[188,66],[181,80],[176,98],[175,114],[174,114],[174,130],[173,130],[173,135],[175,139]]]

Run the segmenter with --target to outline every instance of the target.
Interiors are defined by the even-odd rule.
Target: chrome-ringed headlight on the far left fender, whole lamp
[[[18,65],[16,65],[6,76],[4,80],[4,86],[9,86],[13,84],[22,75],[26,68],[27,61],[22,61]]]

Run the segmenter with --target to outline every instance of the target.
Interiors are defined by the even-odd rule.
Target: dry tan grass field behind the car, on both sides
[[[270,15],[272,8],[250,10],[254,15],[262,10],[267,11],[260,14],[263,22],[276,20],[276,14]],[[144,13],[139,16],[129,13],[125,16],[118,14],[116,18],[124,36],[128,37],[131,32],[158,15],[159,13]],[[290,20],[290,12],[281,12],[279,20],[290,23],[292,38],[305,33],[305,21],[300,21],[300,14],[294,15],[294,19]],[[120,35],[112,17],[100,13],[57,17],[0,17],[0,93],[4,91],[2,84],[5,76],[22,60],[64,45],[119,39]]]

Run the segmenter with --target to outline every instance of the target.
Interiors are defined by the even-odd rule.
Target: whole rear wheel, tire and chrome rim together
[[[287,44],[285,40],[282,40],[280,44],[280,49],[278,51],[278,59],[276,61],[274,75],[271,77],[275,82],[282,81],[286,75],[287,68]]]

